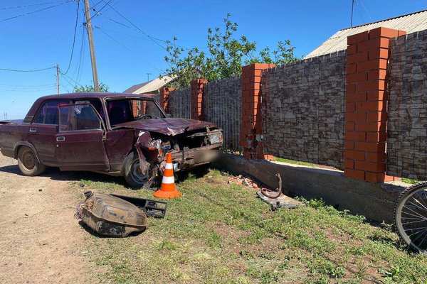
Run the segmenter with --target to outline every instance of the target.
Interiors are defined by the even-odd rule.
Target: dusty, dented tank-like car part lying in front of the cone
[[[125,237],[147,229],[147,215],[134,204],[112,195],[85,192],[75,217],[102,236]]]

